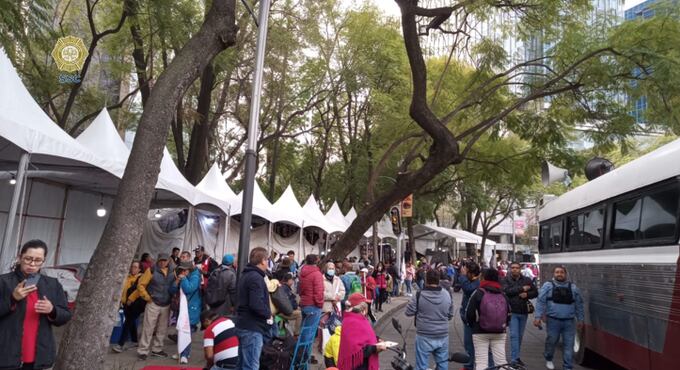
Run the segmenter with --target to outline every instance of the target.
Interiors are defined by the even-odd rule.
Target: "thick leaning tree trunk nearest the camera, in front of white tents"
[[[234,44],[234,13],[235,0],[214,0],[201,29],[159,76],[139,122],[111,216],[80,286],[55,370],[104,368],[121,285],[142,235],[168,123],[198,74],[219,52]]]

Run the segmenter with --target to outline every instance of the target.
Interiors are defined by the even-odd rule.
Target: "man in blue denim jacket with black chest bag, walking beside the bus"
[[[553,269],[553,279],[541,287],[536,301],[534,325],[547,325],[545,338],[545,367],[552,370],[555,346],[562,336],[563,364],[565,370],[573,368],[574,338],[576,328],[583,329],[583,298],[581,292],[572,282],[567,280],[567,269],[557,266]],[[576,319],[577,323],[574,322]]]

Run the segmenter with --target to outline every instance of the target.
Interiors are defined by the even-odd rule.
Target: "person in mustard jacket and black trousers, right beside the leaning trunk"
[[[137,344],[137,319],[144,312],[144,307],[146,307],[146,301],[141,299],[137,291],[137,283],[141,276],[139,261],[132,261],[130,274],[125,279],[125,283],[123,283],[123,294],[120,298],[120,305],[123,307],[125,320],[123,330],[120,333],[120,339],[112,347],[116,353],[121,353],[125,350],[125,340],[128,336],[132,343]]]

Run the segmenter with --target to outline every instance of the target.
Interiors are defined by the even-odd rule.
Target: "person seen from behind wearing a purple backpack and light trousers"
[[[482,273],[479,288],[472,293],[465,311],[472,327],[472,343],[475,350],[475,368],[486,369],[491,349],[495,365],[506,363],[505,330],[510,324],[510,303],[498,281],[498,271],[486,269]]]

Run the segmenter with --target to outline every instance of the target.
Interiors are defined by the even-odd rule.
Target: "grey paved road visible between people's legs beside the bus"
[[[460,316],[457,314],[460,308],[460,301],[462,294],[454,293],[454,305],[456,309],[456,315],[449,325],[449,351],[453,352],[465,352],[463,347],[463,327]],[[413,326],[413,318],[406,317],[404,315],[404,308],[394,313],[395,318],[401,323],[406,337],[406,352],[407,359],[409,363],[415,365],[415,327]],[[385,340],[392,340],[401,343],[401,337],[392,327],[391,320],[382,320],[378,327],[376,327],[376,333]],[[529,369],[545,369],[545,360],[543,359],[543,345],[545,341],[545,329],[540,331],[531,323],[527,323],[527,328],[524,334],[524,340],[522,343],[522,360],[527,364]],[[509,341],[506,353],[510,354]],[[390,361],[392,360],[394,353],[391,351],[382,353],[380,355],[380,368],[383,370],[392,369]],[[555,365],[557,369],[562,369],[562,352],[558,350],[555,354]],[[601,360],[601,363],[596,364],[594,368],[587,368],[575,365],[575,370],[582,369],[597,369],[597,370],[613,370],[617,369],[616,365],[611,363],[606,363],[605,360]],[[431,368],[435,365],[433,362],[430,364]],[[461,366],[459,364],[451,363],[449,365],[450,369],[458,369]]]

